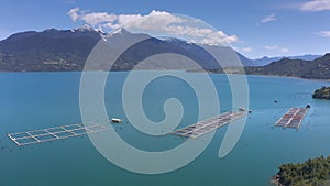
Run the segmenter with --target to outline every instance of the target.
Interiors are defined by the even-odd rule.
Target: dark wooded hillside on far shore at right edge
[[[283,58],[262,67],[245,67],[245,73],[330,79],[330,53],[314,61]]]

